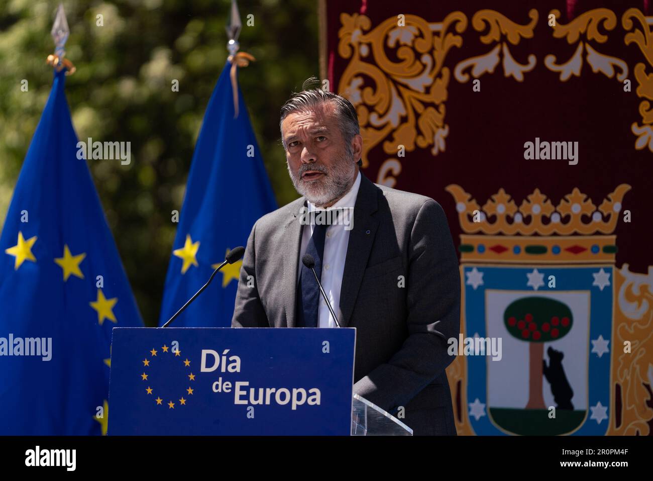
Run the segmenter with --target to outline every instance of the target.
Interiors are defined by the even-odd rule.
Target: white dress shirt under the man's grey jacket
[[[358,188],[360,187],[360,171],[356,177],[356,180],[351,186],[351,189],[334,205],[329,207],[326,210],[332,208],[345,208],[354,207],[356,203],[356,197],[358,196]],[[309,201],[306,201],[308,204],[308,211],[313,210],[325,210],[315,207],[315,205]],[[353,210],[351,211],[353,213]],[[351,216],[351,222],[353,223],[353,215]],[[304,224],[304,230],[302,231],[302,243],[299,250],[299,267],[297,269],[297,278],[299,279],[299,273],[302,271],[302,257],[306,254],[306,248],[308,247],[308,241],[313,235],[313,224]],[[351,227],[351,226],[350,226]],[[343,224],[329,225],[327,227],[327,236],[325,237],[325,252],[322,257],[322,275],[320,282],[322,287],[327,294],[328,300],[333,307],[336,316],[338,316],[338,321],[342,318],[342,312],[340,311],[340,287],[342,286],[342,274],[345,271],[345,256],[347,256],[347,246],[349,245],[349,230],[345,229]],[[333,320],[331,313],[328,310],[327,303],[325,303],[324,297],[320,294],[320,303],[317,314],[317,327],[338,327],[336,322]]]

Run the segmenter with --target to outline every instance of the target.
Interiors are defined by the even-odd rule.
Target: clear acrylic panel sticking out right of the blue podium
[[[354,395],[351,412],[352,436],[412,436],[413,430],[389,412]]]

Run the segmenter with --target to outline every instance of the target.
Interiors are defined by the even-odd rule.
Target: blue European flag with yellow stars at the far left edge
[[[142,325],[77,156],[64,73],[54,75],[0,237],[0,435],[106,433],[111,330]]]

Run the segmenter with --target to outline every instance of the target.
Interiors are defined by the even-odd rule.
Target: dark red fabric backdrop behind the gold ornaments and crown
[[[632,190],[624,197],[623,209],[631,211],[632,222],[626,224],[620,220],[614,232],[619,248],[617,265],[628,263],[631,271],[648,271],[648,265],[653,264],[650,239],[653,153],[648,147],[635,150],[637,137],[631,132],[631,124],[642,124],[638,110],[642,99],[635,93],[634,67],[643,62],[646,73],[653,73],[653,69],[637,45],[626,46],[626,31],[621,24],[622,14],[628,8],[640,8],[645,14],[650,14],[646,11],[650,10],[648,2],[577,1],[567,5],[565,1],[329,0],[327,65],[334,90],[338,89],[340,76],[349,63],[349,59],[338,56],[338,29],[342,26],[340,13],[360,12],[361,7],[372,20],[372,28],[400,13],[419,15],[428,22],[441,22],[449,12],[460,10],[469,22],[461,34],[462,47],[452,48],[445,59],[445,66],[451,71],[445,101],[445,124],[449,125],[446,150],[438,156],[432,156],[430,146],[406,152],[406,158],[400,159],[402,173],[395,188],[422,193],[439,201],[447,212],[454,242],[458,244],[460,225],[453,197],[444,190],[448,184],[460,184],[481,206],[490,195],[504,188],[517,207],[535,188],[547,195],[555,207],[575,187],[586,193],[598,207],[616,186],[630,184]],[[593,73],[585,53],[581,76],[571,76],[567,82],[562,82],[559,73],[544,65],[547,54],[554,54],[556,63],[560,64],[571,58],[577,48],[577,43],[569,45],[565,38],[553,37],[547,24],[550,10],[560,10],[562,15],[558,22],[567,24],[569,11],[575,18],[599,7],[613,10],[617,25],[612,31],[599,28],[608,36],[605,44],[589,43],[601,54],[626,61],[630,92],[624,92],[623,84],[616,78]],[[527,63],[529,54],[537,57],[535,69],[524,74],[524,82],[506,78],[502,63],[494,73],[480,77],[480,92],[472,91],[471,78],[465,84],[454,78],[453,69],[459,61],[485,54],[496,45],[496,42],[483,44],[480,37],[487,32],[478,32],[471,25],[473,14],[483,8],[497,10],[520,25],[530,22],[528,12],[531,8],[538,11],[534,38],[521,39],[517,46],[509,44],[519,63]],[[581,41],[585,39],[582,34]],[[392,50],[386,50],[391,59],[398,61]],[[363,78],[364,86],[374,86],[370,78]],[[525,160],[524,142],[534,142],[535,137],[541,141],[578,141],[579,163],[568,165],[566,161]],[[383,152],[381,143],[370,152],[370,167],[364,170],[374,181],[381,162],[392,157]]]

